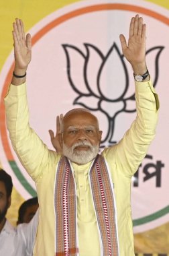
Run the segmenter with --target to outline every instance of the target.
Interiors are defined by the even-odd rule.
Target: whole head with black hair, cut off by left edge
[[[5,170],[0,169],[0,231],[5,224],[5,216],[11,205],[12,188],[13,183],[11,176],[7,174]]]

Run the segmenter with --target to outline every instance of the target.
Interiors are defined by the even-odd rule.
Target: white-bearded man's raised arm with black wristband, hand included
[[[7,129],[13,148],[34,181],[44,170],[48,170],[48,162],[56,160],[56,153],[48,150],[43,141],[36,135],[29,124],[25,73],[31,61],[31,36],[25,36],[23,22],[16,19],[13,23],[13,42],[15,67],[9,92],[5,97]],[[50,156],[50,157],[49,157]]]

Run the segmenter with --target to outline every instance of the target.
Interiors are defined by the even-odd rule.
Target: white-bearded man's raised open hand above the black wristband
[[[15,73],[23,75],[27,70],[32,57],[31,35],[25,37],[23,22],[15,19],[13,22],[13,45],[15,55]]]

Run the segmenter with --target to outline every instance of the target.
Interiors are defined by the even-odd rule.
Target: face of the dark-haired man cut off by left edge
[[[0,223],[4,220],[7,209],[11,205],[11,197],[7,198],[5,184],[0,181]]]

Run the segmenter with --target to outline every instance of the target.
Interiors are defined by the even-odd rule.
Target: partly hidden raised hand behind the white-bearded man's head
[[[60,124],[62,122],[62,119],[62,114],[60,115],[60,117],[56,117],[56,135],[54,135],[54,131],[49,130],[52,146],[55,148],[57,153],[62,153],[62,145],[60,144],[60,136],[62,136]]]

